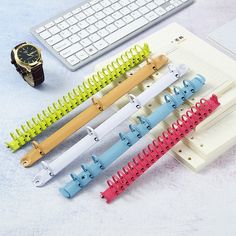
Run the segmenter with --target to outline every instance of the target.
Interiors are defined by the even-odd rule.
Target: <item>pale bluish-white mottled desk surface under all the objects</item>
[[[172,158],[159,161],[123,197],[108,205],[100,199],[105,180],[113,168],[123,166],[132,157],[130,150],[105,173],[73,200],[64,199],[57,188],[68,180],[71,170],[79,171],[79,164],[88,155],[59,175],[44,188],[35,188],[32,177],[40,168],[19,166],[19,159],[30,149],[27,145],[16,154],[5,148],[9,132],[27,118],[79,84],[93,72],[95,64],[118,53],[150,33],[176,21],[206,39],[217,27],[236,17],[235,0],[196,0],[196,3],[156,27],[140,34],[101,59],[70,72],[43,48],[46,82],[39,89],[25,84],[10,64],[10,50],[22,41],[38,42],[29,29],[37,23],[67,9],[79,1],[2,0],[0,7],[0,235],[236,235],[236,148],[199,174],[192,173]],[[41,46],[40,44],[38,44]],[[48,129],[45,138],[66,119]],[[118,130],[103,145],[90,153],[101,153],[112,144]],[[82,132],[84,135],[84,132]],[[81,132],[75,134],[46,160],[52,160],[72,146]]]

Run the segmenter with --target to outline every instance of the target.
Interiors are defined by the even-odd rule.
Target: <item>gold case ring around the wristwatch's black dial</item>
[[[23,62],[23,61],[21,61],[19,59],[17,52],[18,52],[19,49],[21,49],[22,47],[25,47],[26,45],[30,45],[30,46],[33,46],[33,47],[36,48],[36,50],[37,50],[37,52],[39,54],[39,59],[37,61],[35,61],[33,63],[25,63],[25,62]],[[18,48],[13,49],[13,53],[14,53],[14,57],[15,57],[16,63],[19,66],[25,68],[28,72],[31,72],[31,69],[33,67],[38,66],[38,65],[43,63],[41,49],[36,47],[35,45],[31,44],[31,43],[24,43],[24,44],[20,45]]]

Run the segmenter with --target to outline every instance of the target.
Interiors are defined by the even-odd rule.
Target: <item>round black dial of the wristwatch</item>
[[[17,51],[18,58],[26,63],[31,64],[39,60],[40,55],[38,53],[38,50],[33,45],[24,45]]]

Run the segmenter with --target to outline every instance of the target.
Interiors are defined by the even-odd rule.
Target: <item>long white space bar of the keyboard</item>
[[[134,32],[135,30],[143,27],[148,23],[144,17],[140,17],[139,19],[131,22],[129,25],[124,26],[123,28],[115,31],[114,33],[105,37],[105,40],[109,43],[115,43],[118,40],[124,38],[125,36],[129,35],[130,33]]]

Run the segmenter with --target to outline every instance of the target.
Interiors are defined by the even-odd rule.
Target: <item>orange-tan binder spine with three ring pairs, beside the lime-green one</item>
[[[167,62],[168,58],[164,55],[150,59],[146,65],[138,69],[133,75],[124,80],[102,98],[99,100],[93,99],[93,103],[88,108],[66,123],[62,128],[57,130],[40,144],[37,143],[37,145],[34,145],[34,148],[21,159],[21,164],[24,167],[29,167],[34,164],[62,143],[66,138],[99,115],[103,110],[111,106],[119,98],[154,74]]]

